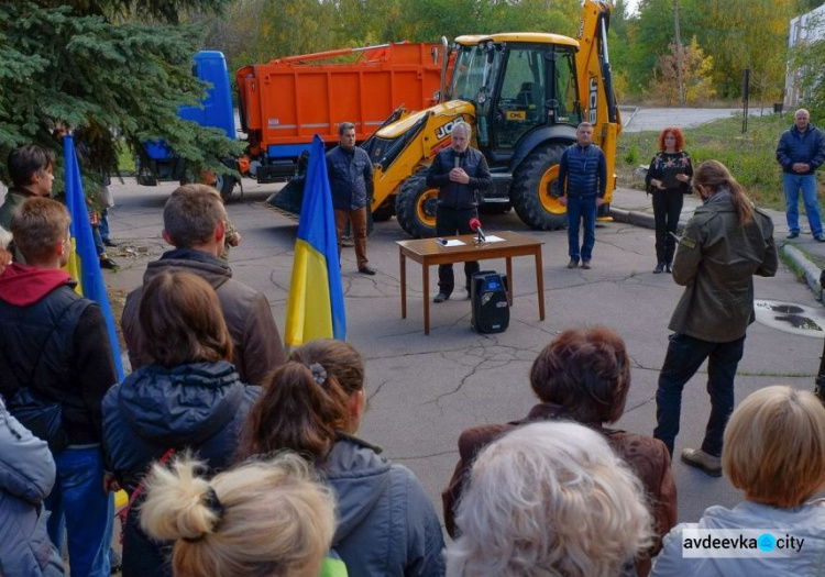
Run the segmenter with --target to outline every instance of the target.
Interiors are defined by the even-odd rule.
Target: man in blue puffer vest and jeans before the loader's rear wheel
[[[561,155],[559,184],[564,196],[559,200],[568,207],[568,268],[591,267],[596,244],[596,210],[604,204],[607,188],[607,163],[604,153],[593,144],[593,124],[582,122],[575,132],[576,144]],[[584,241],[579,247],[579,225],[584,221]]]

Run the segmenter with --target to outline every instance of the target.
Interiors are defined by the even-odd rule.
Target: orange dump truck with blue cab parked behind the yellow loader
[[[355,124],[359,142],[381,127],[400,108],[421,110],[437,102],[442,48],[437,44],[392,43],[274,59],[244,66],[235,74],[241,133],[248,142],[241,158],[222,163],[260,182],[292,178],[298,159],[318,133],[333,146],[341,122]],[[195,56],[197,76],[211,88],[199,107],[182,107],[180,116],[216,126],[238,137],[235,111],[223,54]],[[162,142],[147,143],[148,162],[139,166],[139,182],[195,179],[186,159]],[[205,177],[201,175],[201,180]],[[237,175],[208,175],[229,199]]]

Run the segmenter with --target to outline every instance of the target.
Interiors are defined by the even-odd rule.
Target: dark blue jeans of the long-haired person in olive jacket
[[[653,436],[668,446],[671,455],[679,434],[682,389],[706,358],[711,418],[707,420],[702,451],[710,455],[722,455],[722,436],[734,410],[734,377],[744,351],[744,336],[729,343],[711,343],[686,334],[670,336],[656,391],[657,425]]]

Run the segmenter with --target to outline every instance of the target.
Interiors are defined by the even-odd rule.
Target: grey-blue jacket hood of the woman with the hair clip
[[[392,464],[381,448],[354,436],[339,434],[322,471],[338,499],[338,526],[332,545],[345,540],[378,504],[389,487]]]

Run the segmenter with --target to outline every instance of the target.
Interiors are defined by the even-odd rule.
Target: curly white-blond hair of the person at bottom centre
[[[617,575],[651,544],[641,481],[595,431],[535,423],[488,445],[459,503],[448,574]]]

